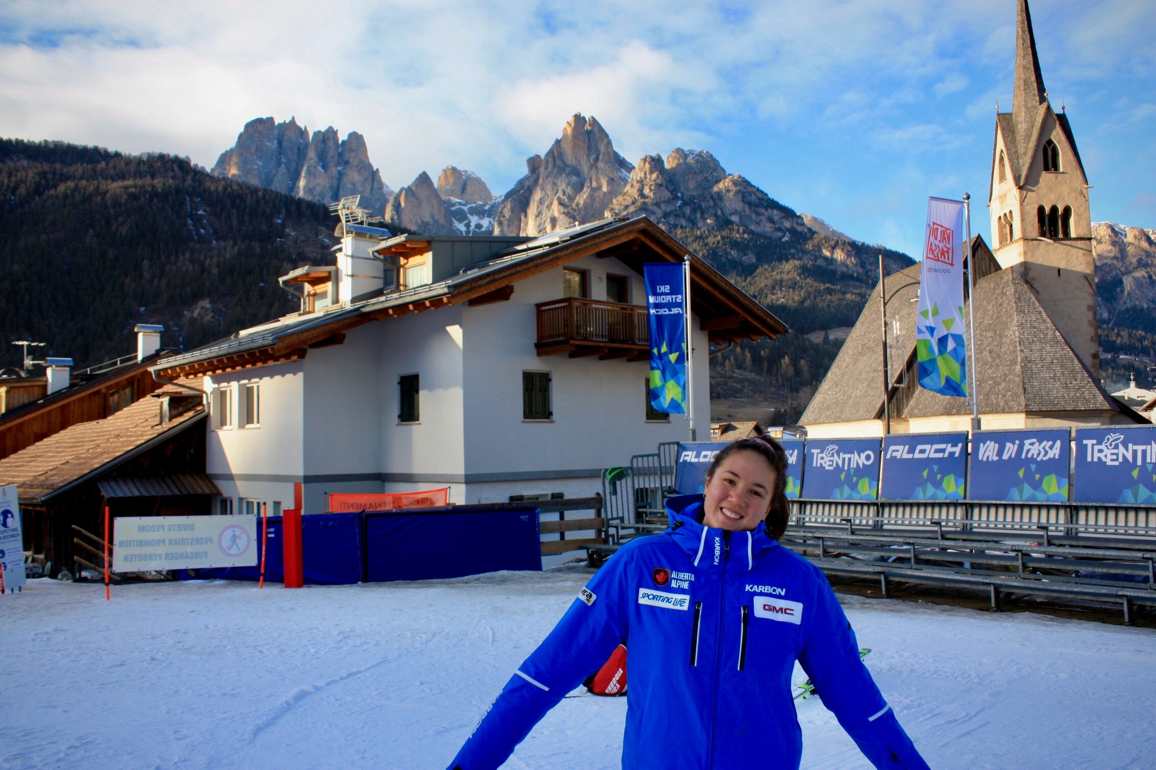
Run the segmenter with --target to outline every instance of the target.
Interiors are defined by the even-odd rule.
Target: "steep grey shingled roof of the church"
[[[979,240],[978,238],[976,240]],[[976,249],[984,254],[986,247]],[[977,260],[977,264],[980,264]],[[980,266],[981,267],[981,266]],[[916,298],[920,266],[887,278],[887,312],[898,321],[898,341],[890,341],[892,382],[913,364]],[[983,269],[977,270],[983,272]],[[1039,305],[1031,286],[1014,269],[998,270],[976,284],[976,368],[979,412],[1121,411],[1099,386]],[[883,413],[882,335],[879,285],[872,293],[831,369],[807,406],[800,425],[879,419]],[[971,345],[970,330],[964,331]],[[969,360],[970,364],[970,360]],[[913,376],[913,366],[906,376]],[[894,393],[894,391],[892,391]],[[922,388],[899,403],[901,418],[966,414],[964,398]]]

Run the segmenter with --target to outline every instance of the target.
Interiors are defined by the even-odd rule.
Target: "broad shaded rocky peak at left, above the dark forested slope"
[[[320,203],[361,195],[361,205],[373,214],[393,196],[369,159],[365,137],[351,132],[342,141],[332,126],[310,136],[296,118],[250,120],[212,173]]]

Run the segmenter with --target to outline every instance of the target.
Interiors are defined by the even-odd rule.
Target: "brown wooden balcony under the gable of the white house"
[[[598,356],[601,360],[650,360],[646,308],[592,299],[556,299],[539,302],[539,356],[569,353],[570,358]]]

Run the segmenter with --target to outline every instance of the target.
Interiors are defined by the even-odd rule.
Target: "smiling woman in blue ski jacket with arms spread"
[[[722,449],[705,495],[672,499],[669,529],[606,562],[450,768],[498,768],[620,643],[630,650],[624,770],[796,769],[795,660],[872,764],[927,768],[860,660],[827,578],[779,546],[785,484],[777,442]]]

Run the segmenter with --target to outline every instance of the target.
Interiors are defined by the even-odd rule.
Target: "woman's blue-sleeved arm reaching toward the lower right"
[[[929,770],[860,659],[855,633],[835,592],[825,578],[820,581],[799,663],[823,705],[880,770]]]

